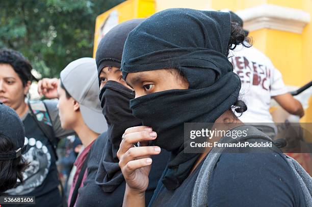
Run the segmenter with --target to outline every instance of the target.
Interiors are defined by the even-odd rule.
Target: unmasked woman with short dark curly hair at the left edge
[[[20,52],[0,49],[0,101],[14,109],[23,122],[27,145],[23,157],[29,163],[23,172],[24,182],[18,181],[18,186],[5,194],[36,196],[38,206],[62,206],[56,146],[60,138],[73,134],[73,131],[62,129],[57,101],[27,102],[25,98],[34,79],[31,71],[30,62]]]

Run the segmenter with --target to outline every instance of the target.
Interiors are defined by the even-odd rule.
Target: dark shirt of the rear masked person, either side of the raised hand
[[[79,189],[79,197],[76,202],[76,207],[83,206],[122,206],[125,181],[122,182],[115,191],[108,193],[101,190],[100,186],[95,184],[95,176],[105,149],[106,137],[99,137],[93,143],[90,150],[90,159],[88,163],[88,176],[84,181],[84,187]],[[149,175],[149,186],[146,191],[146,204],[149,203],[157,183],[162,175],[162,172],[167,165],[169,153],[162,150],[161,154],[153,157],[153,165]]]

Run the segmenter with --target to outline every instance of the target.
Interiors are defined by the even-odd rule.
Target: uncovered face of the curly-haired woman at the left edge
[[[25,103],[24,92],[27,94],[28,87],[23,86],[21,79],[10,65],[0,64],[0,69],[0,81],[2,81],[0,96],[6,97],[8,102],[5,104],[16,110]],[[15,82],[8,84],[4,80],[5,77],[14,77]]]

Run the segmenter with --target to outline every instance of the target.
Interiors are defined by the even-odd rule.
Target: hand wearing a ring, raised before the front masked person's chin
[[[127,183],[127,190],[131,194],[144,194],[147,189],[148,174],[152,163],[150,156],[160,154],[161,148],[142,145],[156,137],[157,133],[146,126],[128,128],[123,134],[117,157]],[[135,146],[134,143],[137,142],[140,142],[141,146]]]

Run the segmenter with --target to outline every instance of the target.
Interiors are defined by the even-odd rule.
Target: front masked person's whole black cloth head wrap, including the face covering
[[[134,116],[158,133],[155,145],[171,152],[162,182],[176,189],[187,178],[199,154],[184,154],[184,123],[216,119],[234,104],[240,78],[227,60],[230,14],[168,9],[137,26],[124,45],[121,71],[175,68],[188,90],[168,90],[131,100]]]

